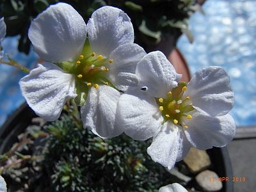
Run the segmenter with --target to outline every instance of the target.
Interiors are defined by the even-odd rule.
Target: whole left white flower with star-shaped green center
[[[119,90],[136,86],[136,64],[145,55],[133,44],[129,17],[105,6],[86,26],[72,6],[58,3],[33,20],[28,35],[34,51],[47,61],[20,80],[36,114],[56,120],[65,102],[75,98],[84,127],[102,138],[121,134],[114,124]]]

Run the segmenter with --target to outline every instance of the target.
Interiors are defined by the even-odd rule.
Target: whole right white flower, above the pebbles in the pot
[[[120,97],[116,116],[135,140],[153,137],[148,154],[172,169],[191,146],[223,147],[236,126],[228,115],[234,104],[230,78],[221,67],[199,70],[186,83],[161,52],[147,54],[137,65],[140,87]]]

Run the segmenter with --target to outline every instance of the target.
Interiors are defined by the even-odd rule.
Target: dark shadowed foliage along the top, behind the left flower
[[[0,18],[4,17],[7,26],[6,36],[20,35],[18,49],[28,54],[30,22],[51,4],[65,2],[73,6],[85,22],[98,8],[116,6],[129,15],[135,32],[135,42],[146,51],[157,45],[166,36],[177,39],[185,33],[190,41],[193,35],[188,28],[188,18],[195,12],[203,12],[196,0],[3,0],[0,3]]]

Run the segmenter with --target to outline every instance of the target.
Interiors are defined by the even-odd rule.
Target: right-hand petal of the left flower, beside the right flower
[[[123,92],[127,91],[129,86],[137,86],[138,79],[135,70],[137,63],[145,54],[144,49],[137,44],[117,47],[109,56],[113,63],[106,65],[109,68],[106,77]]]

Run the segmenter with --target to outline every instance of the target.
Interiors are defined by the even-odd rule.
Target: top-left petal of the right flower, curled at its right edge
[[[177,86],[176,71],[163,52],[148,53],[136,68],[140,87],[147,87],[147,93],[153,97],[166,97]]]

